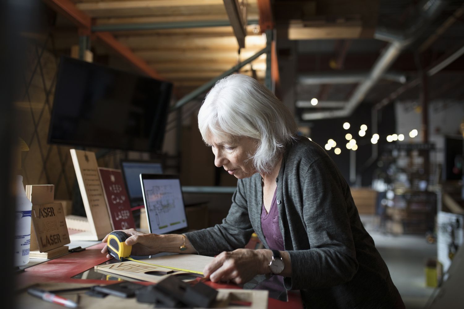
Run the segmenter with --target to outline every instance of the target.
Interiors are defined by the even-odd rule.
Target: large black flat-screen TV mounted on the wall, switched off
[[[49,143],[161,150],[172,84],[62,57]]]

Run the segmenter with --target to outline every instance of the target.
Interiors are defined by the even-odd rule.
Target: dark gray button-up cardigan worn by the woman
[[[387,265],[327,153],[298,138],[287,147],[276,181],[279,229],[292,268],[285,288],[301,290],[306,308],[393,308],[396,288]],[[243,248],[253,231],[268,248],[262,204],[261,176],[240,179],[222,224],[185,235],[201,255]]]

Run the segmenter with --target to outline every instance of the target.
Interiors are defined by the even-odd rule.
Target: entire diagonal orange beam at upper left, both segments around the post
[[[90,34],[92,19],[85,12],[79,10],[71,0],[43,0],[55,12],[62,14],[72,23],[77,25],[79,35]],[[97,32],[90,38],[98,38],[104,44],[116,51],[118,55],[132,63],[137,69],[141,70],[146,75],[162,79],[158,73],[150,68],[148,64],[140,57],[135,56],[134,52],[124,44],[121,44],[110,32]]]

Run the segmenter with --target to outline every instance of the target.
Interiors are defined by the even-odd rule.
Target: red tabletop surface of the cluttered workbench
[[[65,282],[65,283],[80,283],[80,284],[114,284],[115,281],[104,281],[95,279],[72,279],[83,271],[93,268],[95,265],[99,265],[108,261],[105,254],[102,254],[104,244],[97,244],[95,246],[88,247],[86,250],[81,252],[74,252],[66,254],[60,258],[52,259],[45,263],[35,265],[26,270],[23,273],[17,275],[17,282],[19,288],[30,286],[37,283],[48,283],[48,282]],[[239,289],[234,284],[217,284],[211,281],[205,281],[205,284],[215,289]],[[152,284],[146,282],[145,284]],[[268,308],[280,309],[280,308],[303,308],[301,302],[301,296],[299,293],[290,292],[288,293],[288,302],[281,302],[273,298],[269,298]]]

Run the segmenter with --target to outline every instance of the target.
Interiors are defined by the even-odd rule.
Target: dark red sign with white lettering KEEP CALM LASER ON
[[[129,198],[127,196],[121,170],[98,168],[106,205],[110,213],[111,224],[114,230],[126,230],[135,228],[134,217],[130,211]]]

